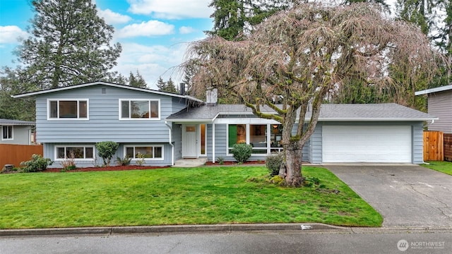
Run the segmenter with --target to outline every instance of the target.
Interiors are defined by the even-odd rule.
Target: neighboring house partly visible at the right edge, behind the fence
[[[439,118],[429,125],[429,131],[452,133],[452,85],[418,91],[415,95],[427,95],[429,114]]]

